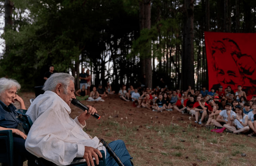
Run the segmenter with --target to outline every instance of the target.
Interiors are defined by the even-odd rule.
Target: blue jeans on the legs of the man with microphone
[[[128,150],[126,149],[124,141],[116,140],[116,141],[110,142],[108,145],[116,153],[116,155],[119,157],[119,159],[122,161],[122,163],[125,166],[133,166],[133,163],[131,161],[132,157],[130,156]],[[118,166],[115,159],[110,155],[110,153],[108,153],[108,151],[106,156],[106,165]]]

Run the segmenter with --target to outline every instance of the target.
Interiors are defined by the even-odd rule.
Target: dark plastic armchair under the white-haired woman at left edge
[[[3,163],[3,166],[13,166],[12,130],[1,130],[0,142],[0,163]]]

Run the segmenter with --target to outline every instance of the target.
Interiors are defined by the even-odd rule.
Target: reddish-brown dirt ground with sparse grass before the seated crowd
[[[28,109],[34,93],[19,92],[18,95]],[[90,117],[84,130],[107,142],[124,140],[136,166],[156,163],[159,166],[251,166],[256,162],[255,138],[212,133],[195,124],[194,117],[190,121],[189,114],[133,107],[132,101],[123,101],[118,95],[110,95],[104,100],[81,101],[96,108],[101,116],[99,120]],[[82,112],[72,104],[70,107],[73,119]],[[241,157],[241,153],[248,157]]]

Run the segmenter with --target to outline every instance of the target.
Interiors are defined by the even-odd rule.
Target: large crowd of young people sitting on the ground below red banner
[[[140,92],[138,92],[140,91]],[[256,136],[256,97],[247,100],[242,87],[238,86],[236,92],[227,87],[223,90],[195,91],[188,87],[186,91],[168,90],[167,88],[133,88],[126,90],[123,86],[119,96],[125,101],[132,100],[133,105],[156,112],[178,111],[195,116],[195,123],[210,128],[212,125],[222,131],[227,129],[232,133],[245,133]]]

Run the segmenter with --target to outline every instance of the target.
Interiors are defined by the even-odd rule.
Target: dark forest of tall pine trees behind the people
[[[204,32],[255,33],[251,0],[0,0],[5,18],[0,77],[41,86],[54,65],[79,87],[92,83],[154,88],[208,87]]]

